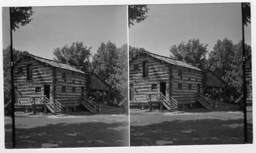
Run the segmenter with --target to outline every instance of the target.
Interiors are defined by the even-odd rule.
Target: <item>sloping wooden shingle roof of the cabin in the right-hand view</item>
[[[186,62],[184,62],[184,61],[180,61],[180,60],[177,60],[177,59],[168,58],[168,57],[165,57],[165,56],[160,56],[160,55],[153,54],[153,53],[146,52],[146,51],[142,51],[142,50],[140,50],[140,52],[145,53],[145,54],[147,54],[147,55],[149,55],[149,56],[151,56],[151,57],[153,57],[153,58],[156,58],[156,59],[158,59],[158,60],[162,60],[162,61],[164,61],[164,62],[173,64],[173,65],[178,65],[178,66],[187,67],[187,68],[191,68],[191,69],[195,69],[195,70],[202,71],[200,68],[197,68],[197,67],[195,67],[195,66],[192,66],[192,65],[190,65],[190,64],[188,64],[188,63],[186,63]],[[136,56],[138,56],[138,54],[137,54]],[[136,56],[135,56],[135,57],[136,57]],[[135,58],[135,57],[133,57],[133,58]],[[133,59],[133,58],[132,58],[132,59]],[[132,59],[130,59],[130,60],[132,60]]]

